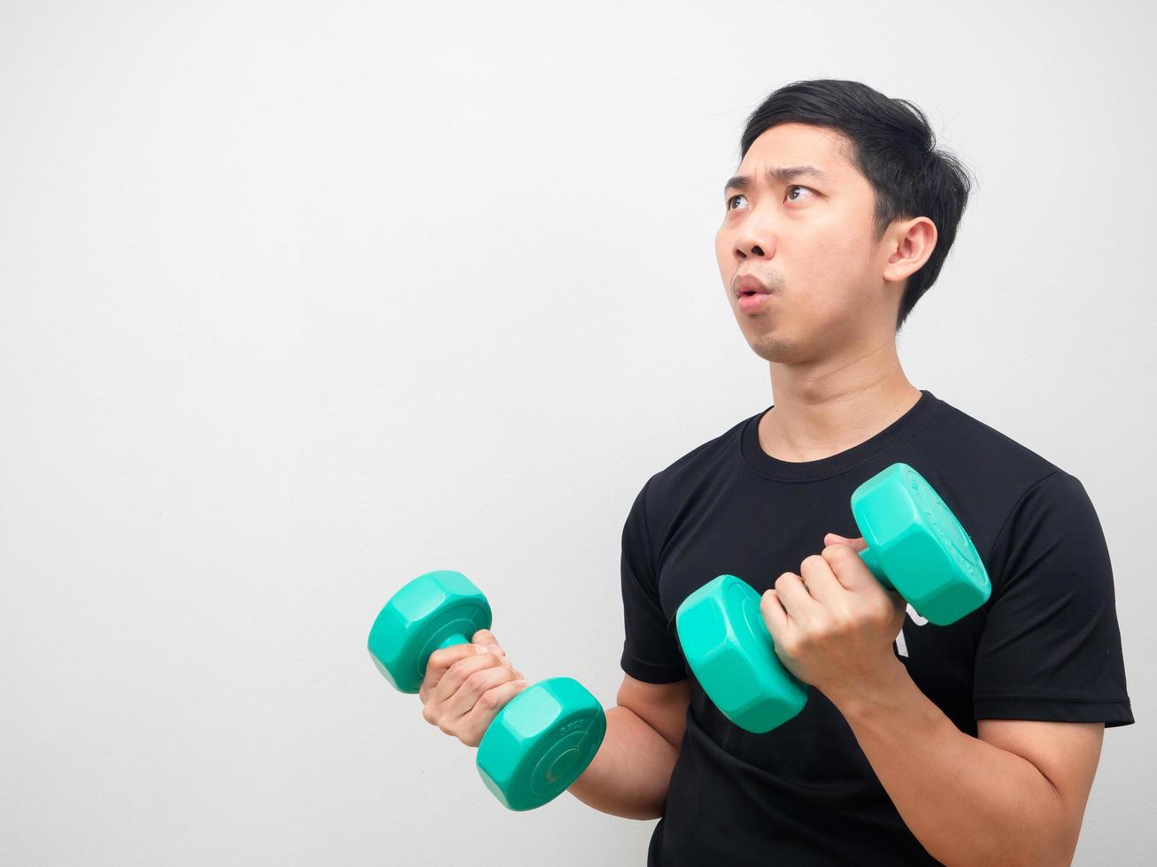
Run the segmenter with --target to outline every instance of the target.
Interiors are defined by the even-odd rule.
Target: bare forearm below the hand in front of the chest
[[[945,865],[1068,864],[1063,810],[1027,759],[959,731],[897,660],[878,689],[831,697],[899,810]]]

